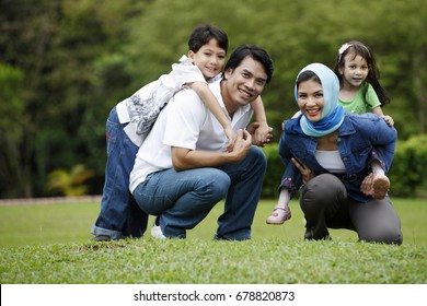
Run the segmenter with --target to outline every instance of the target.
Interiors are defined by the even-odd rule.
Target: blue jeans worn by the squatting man
[[[186,229],[194,228],[226,198],[214,237],[250,239],[266,166],[263,151],[252,146],[240,163],[152,173],[135,189],[134,197],[146,213],[159,216],[163,235],[176,238],[185,238]]]

